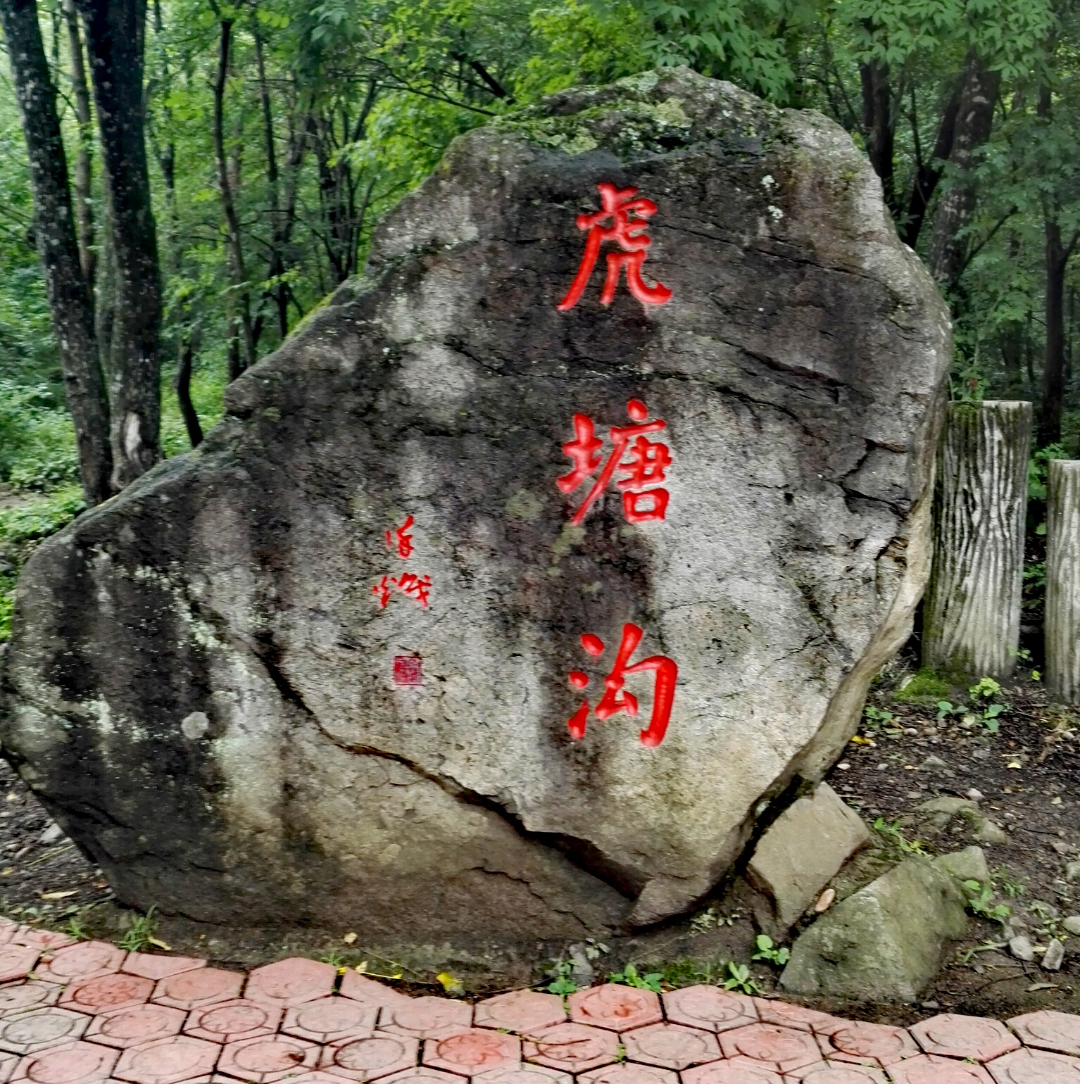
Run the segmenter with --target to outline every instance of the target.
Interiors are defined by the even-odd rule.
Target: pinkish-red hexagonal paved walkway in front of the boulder
[[[716,986],[477,1005],[284,959],[248,975],[0,919],[0,1084],[1080,1084],[1080,1017],[841,1020]],[[681,1080],[680,1080],[681,1079]]]

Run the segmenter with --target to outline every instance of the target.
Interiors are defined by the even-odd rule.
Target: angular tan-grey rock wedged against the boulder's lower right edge
[[[764,833],[746,867],[747,879],[773,906],[774,929],[785,933],[812,906],[870,829],[835,790],[822,783],[793,802]]]

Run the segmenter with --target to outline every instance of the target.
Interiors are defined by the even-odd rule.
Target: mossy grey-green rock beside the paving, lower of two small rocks
[[[781,985],[807,996],[913,1002],[937,973],[946,942],[966,927],[955,879],[909,859],[807,929]]]

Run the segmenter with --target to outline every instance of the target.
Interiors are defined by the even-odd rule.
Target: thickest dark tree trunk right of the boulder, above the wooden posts
[[[955,177],[938,202],[928,255],[930,273],[950,291],[955,287],[967,259],[968,244],[962,232],[975,212],[974,169],[979,149],[990,138],[1000,85],[1000,72],[990,72],[974,54],[968,56],[950,157]]]

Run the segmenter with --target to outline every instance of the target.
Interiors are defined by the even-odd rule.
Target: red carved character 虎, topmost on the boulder
[[[614,241],[621,251],[607,254],[607,278],[604,280],[604,289],[600,295],[601,305],[610,305],[615,300],[615,289],[619,284],[619,271],[627,269],[627,286],[630,293],[643,305],[666,305],[671,300],[671,291],[667,286],[657,283],[655,286],[646,286],[641,278],[641,266],[645,262],[645,249],[653,243],[646,236],[648,219],[656,214],[656,204],[652,199],[634,199],[638,194],[637,189],[617,189],[614,184],[605,181],[597,184],[600,192],[601,210],[592,215],[578,215],[578,229],[588,230],[589,236],[586,238],[584,256],[581,257],[581,266],[578,273],[570,283],[570,288],[566,292],[566,297],[558,302],[561,312],[573,309],[581,299],[592,269],[596,266],[596,257],[600,256],[600,246],[605,241]],[[634,217],[631,218],[630,216]],[[610,225],[602,223],[610,219]]]

